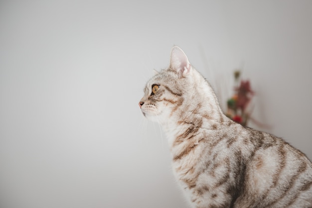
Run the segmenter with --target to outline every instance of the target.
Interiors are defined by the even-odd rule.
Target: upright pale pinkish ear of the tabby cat
[[[170,67],[178,73],[179,77],[185,77],[191,70],[187,56],[178,46],[173,46],[170,57]]]

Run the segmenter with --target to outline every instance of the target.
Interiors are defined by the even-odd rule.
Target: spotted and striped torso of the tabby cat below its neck
[[[192,133],[185,127],[187,137],[172,146],[173,170],[192,203],[312,208],[312,163],[305,154],[269,133],[224,123]]]

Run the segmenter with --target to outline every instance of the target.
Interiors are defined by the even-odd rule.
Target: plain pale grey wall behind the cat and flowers
[[[187,208],[138,102],[173,45],[312,158],[311,0],[1,0],[0,207]],[[252,127],[259,128],[253,125]]]

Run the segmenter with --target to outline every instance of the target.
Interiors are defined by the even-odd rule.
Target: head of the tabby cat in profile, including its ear
[[[174,46],[169,68],[157,72],[146,84],[145,95],[139,102],[143,114],[148,119],[161,122],[174,113],[181,113],[182,104],[190,98],[190,92],[194,91],[194,73],[195,69],[185,53]],[[196,99],[193,99],[195,102]]]

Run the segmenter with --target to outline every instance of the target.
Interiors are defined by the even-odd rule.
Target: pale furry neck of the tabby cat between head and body
[[[216,95],[207,81],[197,71],[194,72],[192,79],[193,89],[199,90],[190,91],[185,95],[179,110],[161,122],[169,143],[190,128],[212,132],[223,128],[224,123],[230,122],[222,112]]]

